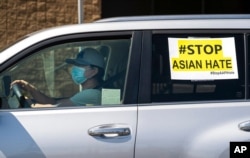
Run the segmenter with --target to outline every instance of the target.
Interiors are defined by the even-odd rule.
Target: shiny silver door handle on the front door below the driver
[[[130,135],[131,130],[124,124],[100,125],[88,130],[88,134],[93,137],[113,138]]]

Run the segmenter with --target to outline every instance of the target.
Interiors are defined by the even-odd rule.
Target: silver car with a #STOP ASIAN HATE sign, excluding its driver
[[[111,18],[27,35],[0,53],[0,157],[242,156],[249,43],[250,15]],[[85,48],[103,57],[100,104],[33,108],[13,85],[72,97],[82,87],[65,61]]]

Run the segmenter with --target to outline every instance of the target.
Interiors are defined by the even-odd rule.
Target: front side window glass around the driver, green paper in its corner
[[[97,50],[104,60],[103,82],[97,88],[101,91],[99,105],[122,104],[130,38],[126,36],[63,42],[33,52],[32,55],[18,61],[1,74],[0,78],[4,81],[0,86],[3,108],[19,107],[16,105],[17,101],[10,97],[12,94],[7,85],[15,80],[25,80],[46,96],[56,100],[71,98],[81,92],[82,87],[75,84],[71,77],[71,69],[74,65],[65,61],[76,59],[78,53],[86,48]],[[28,93],[25,97],[34,100]],[[11,103],[15,105],[9,105]]]

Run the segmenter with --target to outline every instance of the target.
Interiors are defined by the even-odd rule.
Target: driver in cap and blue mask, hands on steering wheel
[[[34,85],[24,80],[15,80],[24,91],[31,94],[36,103],[31,107],[58,107],[58,106],[84,106],[100,105],[101,90],[104,75],[104,58],[93,48],[80,51],[75,59],[66,59],[72,65],[71,76],[73,81],[81,85],[82,91],[68,99],[55,100],[40,92]]]

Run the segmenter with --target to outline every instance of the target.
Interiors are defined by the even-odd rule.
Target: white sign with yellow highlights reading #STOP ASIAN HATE
[[[238,79],[235,41],[227,38],[168,38],[171,79]]]

